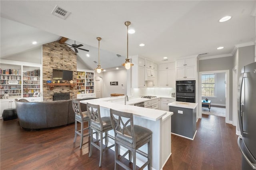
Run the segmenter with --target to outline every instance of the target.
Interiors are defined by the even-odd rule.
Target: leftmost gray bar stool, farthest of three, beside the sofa
[[[90,118],[87,114],[87,111],[82,112],[80,101],[72,100],[72,108],[75,113],[75,138],[74,143],[76,142],[77,134],[81,136],[80,140],[80,149],[82,148],[83,140],[85,136],[90,136]],[[77,130],[77,122],[81,124],[80,130]],[[88,122],[88,127],[84,128],[84,122]],[[88,134],[84,135],[84,130],[88,130]]]

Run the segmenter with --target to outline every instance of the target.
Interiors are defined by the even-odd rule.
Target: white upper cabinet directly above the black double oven
[[[196,57],[176,61],[176,79],[196,79]]]

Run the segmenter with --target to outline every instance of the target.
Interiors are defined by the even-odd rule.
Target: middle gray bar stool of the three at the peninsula
[[[90,144],[89,157],[92,156],[92,146],[100,150],[99,166],[101,166],[103,152],[114,146],[114,144],[108,146],[108,138],[112,138],[114,140],[114,137],[108,134],[108,131],[112,130],[110,117],[100,117],[100,105],[93,105],[93,104],[87,103],[87,111],[88,111],[88,114],[90,115],[91,144]],[[96,138],[95,141],[93,141],[93,130],[96,131],[96,135],[100,134],[100,138],[99,139]],[[105,136],[103,137],[104,132],[105,132]],[[103,148],[103,139],[105,139],[105,145],[106,145],[105,148]],[[100,146],[96,144],[96,142],[98,141],[100,141]]]

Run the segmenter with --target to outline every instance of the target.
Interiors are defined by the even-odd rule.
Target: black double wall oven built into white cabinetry
[[[196,103],[196,81],[176,81],[176,101]]]

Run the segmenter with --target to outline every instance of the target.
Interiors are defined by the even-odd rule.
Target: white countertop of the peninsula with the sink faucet
[[[88,102],[94,105],[100,105],[100,107],[104,107],[107,109],[114,109],[122,112],[132,113],[134,114],[134,116],[142,117],[144,119],[148,119],[151,121],[157,121],[158,119],[161,119],[162,117],[164,117],[164,115],[167,114],[167,111],[137,107],[133,105],[134,103],[139,103],[139,102],[148,101],[152,99],[145,99],[145,98],[139,98],[139,97],[135,97],[135,98],[130,97],[130,98],[131,99],[129,99],[129,101],[126,102],[126,105],[124,105],[124,96],[90,99],[90,100],[83,100],[80,102],[85,104]],[[154,99],[158,99],[158,98],[154,98]],[[168,112],[168,116],[170,116],[169,112]]]

